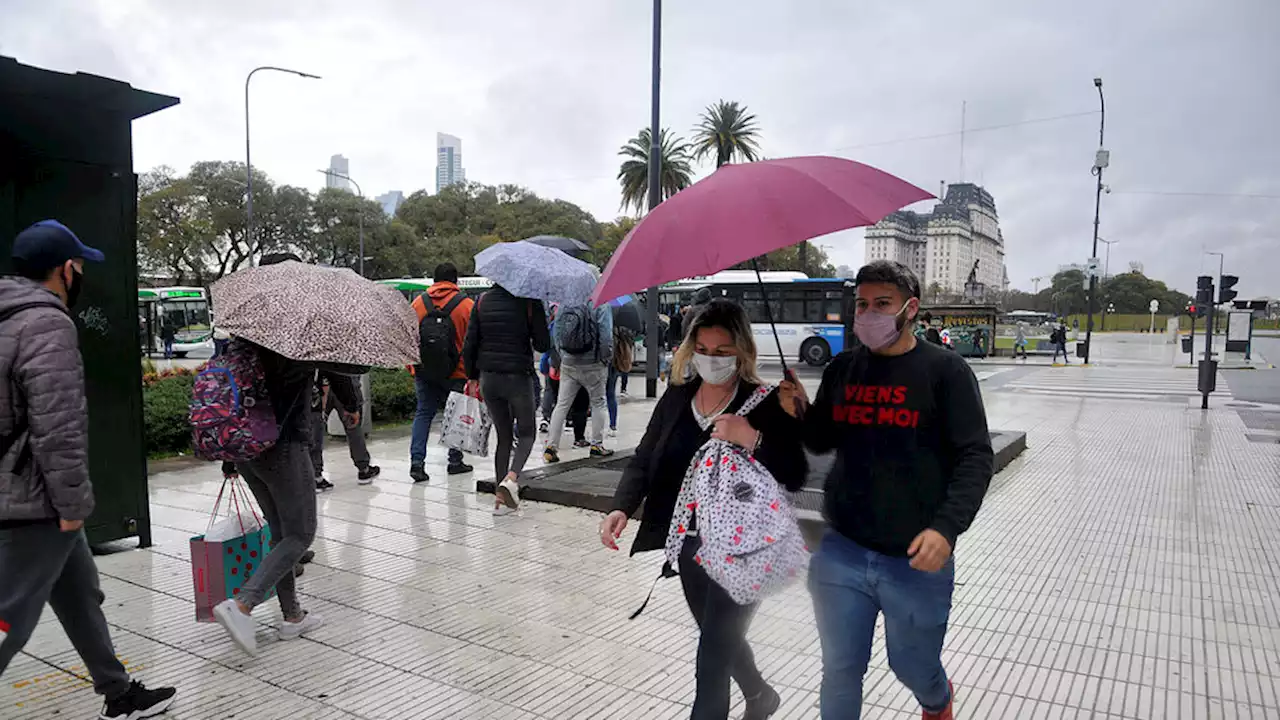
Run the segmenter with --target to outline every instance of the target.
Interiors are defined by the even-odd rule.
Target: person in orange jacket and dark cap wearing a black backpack
[[[415,483],[430,482],[426,473],[426,441],[435,414],[444,407],[451,392],[463,392],[467,370],[462,361],[462,345],[471,323],[475,301],[458,290],[458,269],[453,263],[440,263],[433,275],[435,283],[426,295],[413,300],[419,320],[419,345],[422,363],[415,366],[413,388],[417,410],[408,446],[408,474]],[[449,448],[449,475],[474,470],[462,460],[462,451]]]

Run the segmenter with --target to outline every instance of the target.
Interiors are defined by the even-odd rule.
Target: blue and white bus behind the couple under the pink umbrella
[[[762,283],[764,297],[760,296]],[[746,309],[762,359],[778,360],[778,345],[765,310],[772,313],[787,360],[822,366],[845,348],[846,313],[854,292],[851,281],[810,278],[796,272],[760,273],[758,281],[753,270],[726,270],[662,286],[658,291],[660,311],[678,313],[704,287],[713,296],[727,297]]]

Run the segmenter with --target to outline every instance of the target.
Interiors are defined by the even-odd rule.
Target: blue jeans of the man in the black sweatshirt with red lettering
[[[863,675],[881,612],[890,669],[925,710],[938,712],[947,706],[951,692],[942,641],[954,587],[954,560],[937,573],[923,573],[906,557],[873,552],[836,530],[823,534],[809,565],[822,641],[822,720],[861,717]]]

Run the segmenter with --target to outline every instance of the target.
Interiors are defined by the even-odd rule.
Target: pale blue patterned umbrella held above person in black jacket
[[[476,274],[507,288],[516,297],[582,305],[595,290],[599,273],[559,250],[532,242],[499,242],[476,255]]]

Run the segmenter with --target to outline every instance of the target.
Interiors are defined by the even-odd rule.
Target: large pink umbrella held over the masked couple
[[[872,225],[933,197],[842,158],[724,165],[650,211],[622,241],[595,286],[602,305],[666,282],[709,275],[831,232]]]

